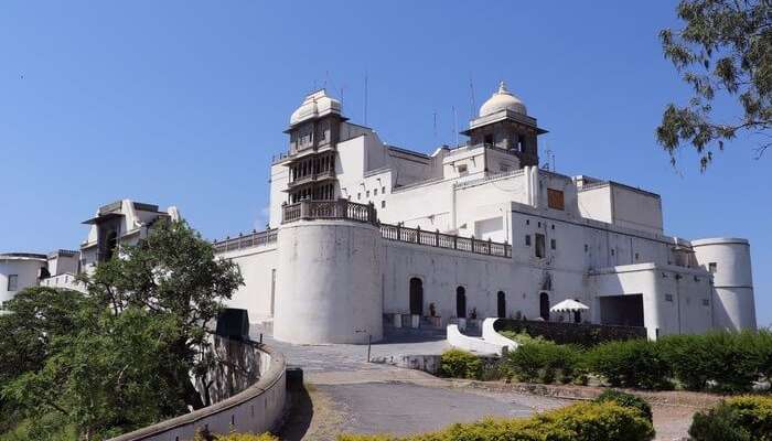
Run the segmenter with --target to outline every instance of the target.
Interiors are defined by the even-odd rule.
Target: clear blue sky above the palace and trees
[[[309,1],[0,3],[0,251],[77,248],[79,222],[129,197],[178,205],[207,238],[265,224],[290,112],[326,83],[389,143],[453,142],[505,79],[566,174],[663,195],[666,232],[751,240],[772,323],[770,171],[739,139],[700,174],[654,129],[688,89],[657,31],[675,2]],[[341,92],[342,89],[342,92]],[[731,111],[731,107],[722,111]],[[438,115],[438,135],[432,115]]]

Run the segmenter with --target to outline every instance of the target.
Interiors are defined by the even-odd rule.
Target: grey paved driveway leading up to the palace
[[[253,338],[259,330],[253,330]],[[367,363],[366,345],[291,345],[264,336],[288,364],[303,369],[307,388],[292,396],[283,441],[335,440],[340,433],[408,434],[437,430],[486,416],[525,417],[573,401],[505,390],[468,387],[387,364]],[[440,354],[444,340],[405,333],[387,335],[372,346],[372,358]],[[686,435],[693,409],[655,407],[658,440]]]

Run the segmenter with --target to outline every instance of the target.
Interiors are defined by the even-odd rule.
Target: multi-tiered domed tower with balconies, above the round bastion
[[[286,133],[290,136],[289,202],[336,197],[335,152],[341,122],[341,103],[324,89],[305,97],[292,112]]]

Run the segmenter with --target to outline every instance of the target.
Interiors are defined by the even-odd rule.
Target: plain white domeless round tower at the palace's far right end
[[[697,262],[712,275],[714,326],[755,330],[750,244],[719,237],[693,240]]]

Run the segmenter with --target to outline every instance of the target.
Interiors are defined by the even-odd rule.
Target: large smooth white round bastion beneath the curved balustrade
[[[377,226],[298,219],[282,224],[278,236],[277,340],[320,344],[383,337],[384,257]]]

